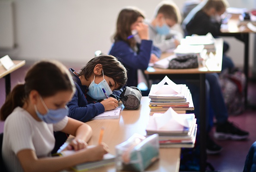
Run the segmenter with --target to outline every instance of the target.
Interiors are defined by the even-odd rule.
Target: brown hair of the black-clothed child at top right
[[[226,0],[208,0],[202,10],[207,11],[212,7],[220,12],[228,7],[228,2]]]

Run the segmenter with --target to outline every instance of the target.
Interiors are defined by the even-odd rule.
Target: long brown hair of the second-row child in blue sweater
[[[134,47],[136,45],[135,39],[127,39],[127,37],[131,35],[131,25],[136,22],[139,17],[145,18],[142,12],[135,7],[126,7],[122,9],[117,18],[114,40],[123,40],[127,42],[129,46]]]

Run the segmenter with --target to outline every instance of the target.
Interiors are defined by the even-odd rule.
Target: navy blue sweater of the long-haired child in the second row
[[[109,55],[113,55],[121,61],[127,69],[127,86],[137,86],[137,69],[146,70],[150,61],[151,53],[160,57],[160,49],[153,46],[151,40],[141,40],[141,44],[137,44],[138,51],[134,51],[125,41],[116,41]]]

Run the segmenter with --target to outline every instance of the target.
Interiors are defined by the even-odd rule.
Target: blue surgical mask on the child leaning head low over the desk
[[[102,70],[103,73],[103,70]],[[95,75],[94,75],[94,80],[95,80]],[[91,98],[95,100],[101,100],[106,98],[106,95],[103,92],[103,89],[105,90],[106,94],[109,96],[112,94],[112,90],[109,87],[109,84],[106,82],[104,79],[104,73],[103,73],[103,81],[101,81],[99,84],[91,82],[89,86],[89,90],[87,92],[87,95],[89,95]]]

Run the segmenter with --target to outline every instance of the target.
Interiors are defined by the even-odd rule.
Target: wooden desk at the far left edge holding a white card
[[[6,68],[3,67],[2,64],[0,64],[0,78],[5,78],[5,92],[6,96],[11,91],[11,73],[13,71],[16,71],[17,69],[21,68],[25,65],[25,60],[13,60],[13,63],[15,64],[12,68],[9,70],[6,70]]]

